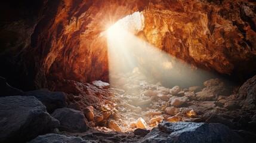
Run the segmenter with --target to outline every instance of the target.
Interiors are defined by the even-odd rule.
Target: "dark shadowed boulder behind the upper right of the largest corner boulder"
[[[52,92],[48,89],[25,92],[24,96],[34,96],[47,107],[48,113],[53,113],[57,108],[67,107],[66,95],[63,92]]]

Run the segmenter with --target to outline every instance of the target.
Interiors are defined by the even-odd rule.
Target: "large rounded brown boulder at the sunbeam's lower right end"
[[[220,79],[210,79],[203,83],[206,88],[196,93],[200,101],[208,101],[216,98],[218,95],[227,95],[227,89]]]

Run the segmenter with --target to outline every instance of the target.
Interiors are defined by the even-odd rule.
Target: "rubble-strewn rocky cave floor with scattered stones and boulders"
[[[36,99],[0,97],[3,142],[16,139],[26,142],[38,135],[41,136],[30,142],[254,142],[256,139],[256,76],[240,87],[229,86],[221,79],[210,79],[203,83],[203,87],[187,89],[146,82],[146,77],[136,68],[129,73],[110,75],[110,79],[111,85],[100,80],[55,83],[58,88],[54,90],[62,90],[64,94],[47,89],[22,92],[1,78],[2,93],[22,95],[23,99],[34,96],[58,120],[33,117],[32,113],[36,113],[31,110],[38,111],[41,107],[38,105],[41,102],[30,105]],[[20,104],[30,107],[29,117],[24,117],[27,113],[23,107],[26,105]],[[43,106],[45,113],[44,110]],[[38,121],[39,117],[42,119]],[[32,125],[21,121],[18,123],[21,128],[13,127],[11,124],[17,119],[30,120]],[[44,125],[45,120],[52,123],[49,121]],[[38,123],[48,128],[39,130],[41,125]],[[33,129],[31,126],[36,127],[26,133],[33,133],[26,135],[23,131]],[[6,129],[12,131],[4,132]]]

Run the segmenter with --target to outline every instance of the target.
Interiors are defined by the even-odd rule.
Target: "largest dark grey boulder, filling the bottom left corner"
[[[25,142],[60,125],[35,97],[0,97],[0,142]]]

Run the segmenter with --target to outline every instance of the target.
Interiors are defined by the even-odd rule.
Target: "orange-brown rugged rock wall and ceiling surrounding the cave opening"
[[[1,76],[23,90],[54,89],[56,81],[66,79],[107,81],[107,44],[102,33],[135,11],[145,17],[143,38],[186,63],[243,80],[256,71],[252,1],[3,3],[1,11],[13,18],[1,20]]]

